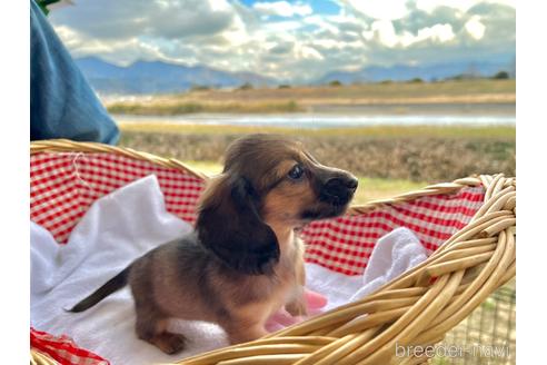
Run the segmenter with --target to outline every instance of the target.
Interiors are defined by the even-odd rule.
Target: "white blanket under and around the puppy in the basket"
[[[97,200],[66,246],[59,246],[46,229],[31,223],[31,325],[51,334],[67,334],[113,365],[172,362],[226,346],[226,335],[217,325],[183,320],[170,324],[171,331],[185,333],[189,339],[183,353],[169,356],[139,341],[127,287],[83,313],[63,310],[135,258],[190,230],[190,225],[166,210],[155,176]],[[327,308],[370,293],[425,258],[425,249],[408,233],[380,240],[364,277],[348,277],[307,264],[308,287],[328,297]],[[400,243],[397,237],[406,238]]]

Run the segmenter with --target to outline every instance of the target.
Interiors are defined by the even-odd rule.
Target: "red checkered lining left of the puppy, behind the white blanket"
[[[205,182],[176,169],[110,154],[38,154],[30,162],[30,218],[60,244],[89,206],[128,182],[155,174],[167,209],[193,223]]]

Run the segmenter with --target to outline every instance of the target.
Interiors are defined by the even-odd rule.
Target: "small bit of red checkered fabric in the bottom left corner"
[[[79,348],[68,336],[53,336],[46,332],[30,327],[30,347],[49,355],[58,363],[79,365],[108,365],[108,361],[87,351]]]

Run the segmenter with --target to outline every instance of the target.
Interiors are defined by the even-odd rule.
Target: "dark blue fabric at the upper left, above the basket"
[[[34,1],[30,1],[30,140],[116,145],[116,122]]]

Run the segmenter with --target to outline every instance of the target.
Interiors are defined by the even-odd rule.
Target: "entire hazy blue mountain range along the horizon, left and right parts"
[[[192,87],[236,88],[245,83],[275,87],[290,83],[255,72],[230,72],[207,66],[185,66],[162,61],[136,61],[116,66],[96,57],[76,60],[91,86],[102,95],[151,95],[182,92]],[[514,72],[513,62],[451,62],[426,66],[369,66],[356,71],[331,71],[309,85],[404,81],[421,78],[430,81],[458,75],[489,77],[500,70]]]

